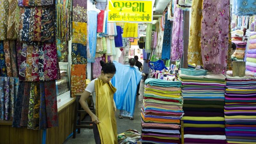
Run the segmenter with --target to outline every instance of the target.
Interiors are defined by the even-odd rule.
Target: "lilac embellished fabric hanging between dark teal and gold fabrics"
[[[176,4],[174,4],[173,16],[171,60],[176,61],[183,53],[183,11]]]

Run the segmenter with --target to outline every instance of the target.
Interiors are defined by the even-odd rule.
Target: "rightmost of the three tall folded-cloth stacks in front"
[[[256,143],[256,77],[227,76],[225,121],[227,143]]]

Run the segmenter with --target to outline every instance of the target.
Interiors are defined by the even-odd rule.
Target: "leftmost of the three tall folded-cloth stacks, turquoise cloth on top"
[[[149,78],[141,108],[142,143],[180,143],[181,83]]]

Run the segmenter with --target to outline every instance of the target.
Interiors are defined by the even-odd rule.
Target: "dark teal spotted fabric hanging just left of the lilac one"
[[[171,36],[172,36],[172,23],[168,20],[168,12],[165,15],[165,24],[164,24],[164,40],[163,40],[163,48],[162,48],[162,59],[169,60],[170,59],[170,51],[171,51]],[[149,52],[147,52],[149,53]]]

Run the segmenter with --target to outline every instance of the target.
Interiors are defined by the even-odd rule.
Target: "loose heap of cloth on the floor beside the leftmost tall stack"
[[[140,135],[140,132],[130,129],[118,134],[117,140],[119,144],[137,144],[137,141],[140,141]]]

